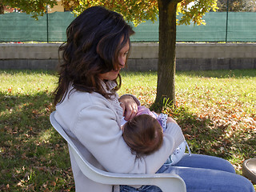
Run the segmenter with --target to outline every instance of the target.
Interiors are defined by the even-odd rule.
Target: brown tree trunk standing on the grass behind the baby
[[[175,103],[176,11],[178,0],[158,0],[159,54],[158,86],[153,108]]]

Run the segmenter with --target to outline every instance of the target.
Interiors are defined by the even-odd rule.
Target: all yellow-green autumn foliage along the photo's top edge
[[[172,2],[172,1],[169,1]],[[216,10],[217,0],[183,0],[178,1],[177,14],[182,14],[181,20],[178,24],[203,24],[202,16],[210,11]],[[218,0],[218,6],[225,7],[226,0]],[[254,6],[256,0],[242,1],[242,0],[230,0],[232,5],[241,4],[248,6]],[[250,3],[249,3],[250,2]],[[239,5],[240,5],[239,4]],[[57,5],[57,1],[53,0],[2,0],[1,6],[8,6],[17,8],[26,12],[26,14],[32,14],[32,17],[38,18],[46,13],[46,7],[53,7]],[[127,21],[134,22],[137,26],[140,22],[145,20],[151,20],[154,22],[158,16],[158,1],[157,0],[62,0],[62,5],[66,10],[72,8],[74,14],[81,14],[83,10],[90,6],[105,6],[107,9],[117,11],[121,13]]]

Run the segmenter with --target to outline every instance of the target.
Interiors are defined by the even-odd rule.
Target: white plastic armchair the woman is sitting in
[[[153,185],[158,186],[163,192],[186,192],[185,182],[177,174],[116,174],[92,166],[82,157],[65,130],[55,120],[54,113],[55,111],[50,114],[51,125],[65,138],[70,153],[74,155],[79,168],[87,178],[106,185]]]

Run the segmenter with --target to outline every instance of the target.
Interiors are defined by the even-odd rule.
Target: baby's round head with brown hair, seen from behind
[[[132,118],[122,127],[122,136],[137,157],[152,154],[162,146],[162,127],[148,114]]]

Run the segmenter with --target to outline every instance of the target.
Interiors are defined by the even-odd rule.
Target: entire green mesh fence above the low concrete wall
[[[73,19],[70,12],[44,15],[38,21],[25,13],[0,14],[0,42],[64,42]],[[255,12],[210,12],[203,19],[206,26],[177,26],[177,42],[256,42]],[[158,42],[158,21],[143,22],[134,30],[133,42]]]

